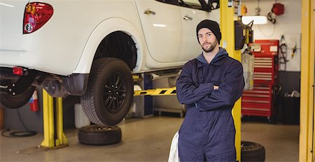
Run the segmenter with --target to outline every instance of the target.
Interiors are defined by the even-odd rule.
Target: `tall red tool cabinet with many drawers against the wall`
[[[278,47],[279,40],[255,40],[260,44],[255,57],[253,89],[244,90],[241,96],[241,115],[267,117],[274,115],[274,86],[278,84]]]

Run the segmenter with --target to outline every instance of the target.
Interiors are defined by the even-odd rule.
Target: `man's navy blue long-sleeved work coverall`
[[[177,98],[187,105],[179,129],[180,161],[236,160],[231,111],[244,84],[241,63],[222,47],[210,64],[200,54],[183,66],[176,82]]]

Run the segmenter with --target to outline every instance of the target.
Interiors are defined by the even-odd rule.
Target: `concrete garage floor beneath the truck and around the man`
[[[66,129],[69,146],[49,151],[36,149],[43,134],[28,138],[1,136],[0,161],[167,161],[169,145],[182,121],[179,117],[126,119],[118,125],[123,140],[107,146],[81,145],[77,129]],[[241,125],[241,139],[263,145],[266,161],[298,161],[298,135],[297,125],[253,121]]]

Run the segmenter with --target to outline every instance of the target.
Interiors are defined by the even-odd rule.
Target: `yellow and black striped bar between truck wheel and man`
[[[134,91],[134,96],[169,96],[169,95],[176,95],[176,87]]]

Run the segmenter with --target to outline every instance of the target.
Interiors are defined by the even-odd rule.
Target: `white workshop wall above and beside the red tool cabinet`
[[[267,15],[274,3],[284,5],[283,15],[276,16],[276,24],[268,21],[267,24],[253,25],[254,39],[277,39],[281,40],[283,35],[288,45],[286,59],[286,71],[300,71],[300,38],[301,38],[301,7],[300,0],[260,0],[260,15]],[[247,14],[255,15],[255,8],[258,6],[258,0],[241,0],[241,4],[246,5]],[[292,57],[292,49],[297,45],[297,50]],[[284,71],[281,64],[280,71]]]

